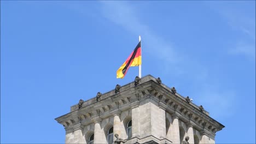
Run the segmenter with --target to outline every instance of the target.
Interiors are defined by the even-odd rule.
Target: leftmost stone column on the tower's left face
[[[74,143],[86,143],[83,135],[83,125],[77,124],[73,127],[74,129]]]

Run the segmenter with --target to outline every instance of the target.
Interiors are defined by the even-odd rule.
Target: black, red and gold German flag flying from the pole
[[[133,50],[131,55],[126,59],[126,61],[117,70],[117,79],[123,79],[130,67],[135,67],[141,65],[141,41],[137,44],[136,48]]]

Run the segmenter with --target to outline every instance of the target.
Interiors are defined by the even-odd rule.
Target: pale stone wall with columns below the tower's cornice
[[[158,143],[177,143],[177,141],[184,141],[185,136],[190,137],[189,143],[195,143],[194,135],[197,137],[196,140],[199,139],[196,141],[198,143],[215,143],[214,135],[210,137],[200,133],[199,130],[188,127],[188,124],[181,119],[175,123],[175,118],[156,104],[158,103],[154,100],[147,99],[130,110],[113,111],[110,117],[95,119],[94,123],[85,125],[83,128],[67,130],[66,143],[88,143],[92,134],[95,134],[95,143],[107,143],[107,131],[111,127],[114,128],[114,134],[119,134],[119,137],[127,140],[127,143],[144,143],[150,140]],[[132,120],[132,138],[127,139],[126,128],[130,120]],[[166,121],[169,124],[166,124]],[[182,139],[176,140],[176,137],[181,136],[181,129],[184,130]]]

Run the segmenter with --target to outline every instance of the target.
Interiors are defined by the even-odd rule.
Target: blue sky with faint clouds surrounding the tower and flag
[[[142,76],[161,77],[255,143],[255,1],[1,1],[1,143],[64,143],[54,118],[108,92],[142,37]]]

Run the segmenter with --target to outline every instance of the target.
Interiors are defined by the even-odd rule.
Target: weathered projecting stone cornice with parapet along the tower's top
[[[178,93],[172,93],[171,88],[156,82],[154,77],[148,75],[142,77],[141,83],[134,86],[134,82],[120,87],[120,92],[110,91],[102,94],[101,100],[90,99],[78,105],[72,106],[72,112],[56,118],[56,121],[68,127],[74,127],[78,123],[83,125],[93,123],[95,117],[107,118],[113,115],[120,115],[122,111],[138,107],[142,101],[150,99],[160,109],[166,110],[172,115],[175,114],[183,122],[193,123],[198,130],[211,131],[216,133],[224,125],[218,123],[208,116],[207,111],[200,111],[199,106],[187,103],[184,97]]]

